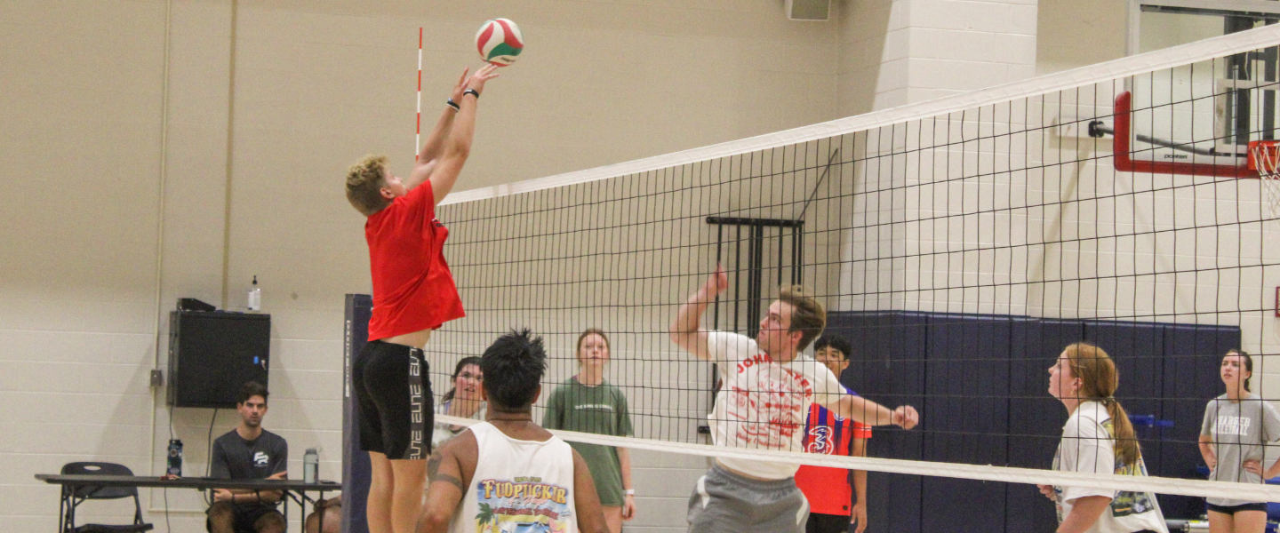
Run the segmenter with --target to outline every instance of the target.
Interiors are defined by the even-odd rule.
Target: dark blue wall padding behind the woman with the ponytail
[[[841,381],[922,413],[922,431],[877,428],[872,456],[1050,468],[1066,409],[1048,394],[1048,368],[1066,345],[1088,340],[1116,362],[1116,398],[1155,422],[1137,428],[1151,473],[1183,478],[1198,477],[1204,403],[1221,394],[1221,354],[1240,341],[1235,326],[899,311],[832,312],[827,331],[854,346]],[[1053,505],[1029,484],[873,472],[868,486],[869,532],[1057,525]],[[1160,500],[1170,518],[1204,509],[1203,498]]]

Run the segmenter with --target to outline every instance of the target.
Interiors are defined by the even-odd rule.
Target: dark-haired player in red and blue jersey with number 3
[[[813,358],[827,366],[837,377],[849,368],[849,351],[852,346],[845,337],[823,335],[813,343]],[[856,395],[852,391],[849,394]],[[805,423],[804,435],[805,451],[865,458],[867,440],[870,437],[869,426],[837,417],[818,404],[809,406],[809,421]],[[854,481],[852,487],[849,486],[850,477]],[[796,487],[800,487],[800,492],[809,500],[805,533],[844,533],[849,530],[849,524],[858,524],[858,533],[867,529],[867,470],[801,465],[796,472]],[[854,502],[855,493],[856,502]]]

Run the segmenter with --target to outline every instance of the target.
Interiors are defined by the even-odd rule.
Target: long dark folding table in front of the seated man
[[[164,479],[151,475],[100,475],[100,474],[36,474],[36,479],[40,479],[49,484],[63,486],[61,506],[58,509],[58,528],[59,532],[64,524],[65,518],[74,518],[76,509],[70,506],[72,495],[79,487],[159,487],[159,488],[196,488],[196,490],[212,490],[212,488],[248,488],[256,491],[280,491],[289,500],[298,504],[298,509],[302,513],[301,529],[306,532],[307,523],[307,502],[315,507],[316,500],[324,500],[324,493],[328,491],[340,491],[342,483],[335,483],[332,481],[321,481],[317,483],[306,483],[301,481],[292,479],[210,479],[210,478],[177,478],[177,479]],[[307,492],[317,492],[319,497],[312,500],[307,496]],[[283,500],[283,498],[282,498]],[[284,502],[284,516],[288,519],[289,504]],[[320,514],[320,530],[324,530],[324,515]]]

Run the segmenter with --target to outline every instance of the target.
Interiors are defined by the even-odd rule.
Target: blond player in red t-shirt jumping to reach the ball
[[[433,427],[431,383],[422,346],[442,323],[461,318],[462,302],[442,251],[449,231],[435,206],[453,189],[471,151],[476,105],[486,65],[453,87],[408,178],[367,156],[347,174],[347,199],[362,215],[374,280],[369,344],[352,364],[360,408],[360,447],[372,479],[366,518],[370,533],[411,533],[426,479]]]

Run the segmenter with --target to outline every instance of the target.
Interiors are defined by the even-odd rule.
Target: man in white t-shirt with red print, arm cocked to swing
[[[717,267],[671,325],[672,341],[719,366],[723,386],[708,417],[716,445],[804,451],[810,404],[868,426],[910,429],[919,422],[910,405],[890,410],[846,394],[826,366],[800,353],[827,326],[827,312],[799,285],[782,288],[754,340],[701,328],[707,305],[727,288],[728,276]],[[796,488],[796,469],[792,463],[717,459],[689,500],[689,530],[804,532],[809,505]]]

